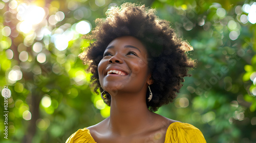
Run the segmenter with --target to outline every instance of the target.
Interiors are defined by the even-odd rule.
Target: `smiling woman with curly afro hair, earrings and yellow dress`
[[[79,129],[66,142],[206,142],[193,125],[154,113],[172,102],[194,61],[154,9],[125,3],[97,19],[96,39],[80,58],[93,74],[94,91],[111,107],[110,117]]]

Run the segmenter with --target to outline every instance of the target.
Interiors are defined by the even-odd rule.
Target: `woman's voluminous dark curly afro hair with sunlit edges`
[[[93,75],[91,82],[96,93],[103,89],[99,83],[98,64],[102,59],[106,46],[117,37],[133,36],[139,39],[146,47],[148,54],[148,69],[152,74],[154,84],[151,90],[153,98],[148,102],[147,108],[157,111],[164,104],[172,102],[182,87],[184,77],[189,76],[187,71],[194,67],[194,60],[187,57],[186,52],[193,50],[187,41],[177,38],[169,22],[159,19],[156,10],[146,8],[144,5],[124,3],[120,7],[112,7],[106,12],[106,19],[96,19],[96,28],[84,38],[93,39],[94,42],[79,55],[87,70]],[[111,96],[103,92],[104,102],[110,106]]]

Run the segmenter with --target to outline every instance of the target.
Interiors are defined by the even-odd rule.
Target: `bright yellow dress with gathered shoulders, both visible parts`
[[[191,124],[175,122],[169,125],[164,143],[204,143],[206,142],[202,132]],[[90,134],[90,131],[86,128],[79,129],[72,134],[66,141],[66,143],[96,143]]]

